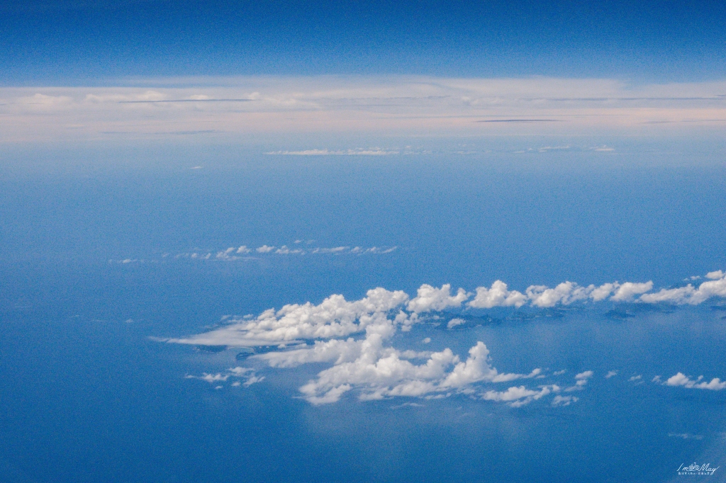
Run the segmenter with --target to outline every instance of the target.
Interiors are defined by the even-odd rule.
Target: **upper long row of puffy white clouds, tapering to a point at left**
[[[256,251],[271,252],[274,247],[264,245]],[[219,256],[232,253],[247,253],[252,249],[239,247],[219,252]],[[721,282],[719,279],[716,282]],[[711,283],[711,282],[706,282]],[[347,337],[362,332],[372,323],[388,320],[388,313],[394,311],[393,324],[407,330],[413,323],[420,321],[424,313],[441,310],[462,310],[462,308],[521,307],[527,303],[533,307],[553,307],[568,305],[582,300],[612,301],[633,300],[635,294],[652,288],[652,282],[634,284],[626,282],[602,286],[578,286],[563,282],[550,289],[547,286],[533,285],[525,294],[510,291],[502,281],[495,281],[490,288],[478,287],[476,294],[444,284],[440,288],[423,284],[416,297],[402,291],[390,292],[383,288],[372,289],[367,297],[349,302],[342,295],[331,295],[319,305],[307,302],[302,305],[285,305],[280,310],[269,309],[256,318],[232,318],[227,325],[205,334],[185,339],[172,339],[171,342],[184,344],[253,346],[271,344],[290,344],[305,339],[330,339]],[[474,295],[473,300],[469,300]],[[468,303],[467,300],[469,300]],[[395,310],[394,310],[395,309]],[[449,328],[465,323],[454,318],[447,324]]]

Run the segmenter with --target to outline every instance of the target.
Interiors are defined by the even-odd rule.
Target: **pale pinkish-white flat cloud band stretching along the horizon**
[[[0,142],[171,139],[179,133],[632,134],[726,124],[724,82],[629,86],[611,79],[253,76],[118,83],[126,86],[0,88]],[[396,152],[312,147],[272,152]]]

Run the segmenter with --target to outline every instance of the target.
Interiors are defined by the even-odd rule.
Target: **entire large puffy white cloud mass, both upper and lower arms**
[[[710,290],[709,297],[719,295],[717,289],[708,287],[725,283],[725,277],[720,271],[711,272],[706,276],[709,281],[694,290],[701,293]],[[613,282],[587,287],[563,282],[551,289],[547,286],[529,286],[522,293],[510,291],[506,284],[496,281],[491,287],[479,287],[476,294],[472,294],[464,289],[453,292],[449,284],[440,288],[424,284],[413,298],[400,290],[389,291],[378,287],[369,290],[360,300],[349,301],[343,295],[336,294],[327,297],[319,305],[311,302],[290,304],[280,310],[265,310],[257,316],[225,318],[224,325],[216,329],[166,341],[233,347],[277,346],[277,350],[250,356],[274,368],[327,363],[330,367],[320,371],[314,379],[300,388],[303,397],[316,405],[336,402],[347,392],[354,391],[361,400],[390,397],[438,398],[465,394],[481,400],[505,402],[513,407],[555,395],[552,405],[566,406],[576,402],[578,398],[558,393],[584,390],[594,376],[593,371],[576,373],[574,384],[565,389],[557,384],[540,385],[536,388],[524,385],[505,389],[486,388],[486,384],[540,379],[543,377],[542,371],[534,368],[529,373],[499,372],[491,365],[489,348],[484,342],[477,342],[471,347],[464,359],[449,348],[435,352],[398,350],[392,345],[393,336],[397,331],[408,331],[416,323],[431,320],[432,317],[441,319],[441,314],[427,315],[431,312],[456,313],[470,308],[522,307],[525,304],[552,307],[587,300],[646,302],[642,299],[645,292],[652,287],[652,282]],[[639,296],[640,299],[637,298]],[[676,303],[681,302],[679,300]],[[464,323],[463,318],[451,318],[447,327],[451,329]],[[230,369],[224,374],[205,373],[200,377],[189,377],[216,383],[227,381],[230,376],[246,373],[240,371],[242,368]],[[552,376],[561,375],[563,372],[557,371]],[[605,379],[617,373],[609,371]],[[252,375],[248,379],[249,384],[257,381],[254,377],[256,376]],[[726,388],[726,381],[712,379],[706,382],[701,379],[703,376],[694,380],[677,373],[663,384],[693,389]],[[642,376],[633,376],[629,381],[640,384]],[[658,377],[654,381],[660,382]]]

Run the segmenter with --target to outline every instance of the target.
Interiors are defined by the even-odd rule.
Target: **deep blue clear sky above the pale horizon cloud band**
[[[698,1],[4,1],[0,83],[168,75],[723,78]]]

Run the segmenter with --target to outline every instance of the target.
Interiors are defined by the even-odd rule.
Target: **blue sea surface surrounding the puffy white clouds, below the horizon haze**
[[[300,388],[330,363],[271,367],[235,347],[165,342],[376,287],[660,289],[726,269],[720,141],[378,142],[420,149],[2,147],[0,480],[726,481],[726,390],[661,382],[726,378],[719,297],[444,309],[391,339],[461,360],[484,342],[502,373],[541,368],[541,382],[510,386],[558,384],[575,397],[560,405],[362,400],[364,388],[315,405]],[[202,379],[240,365],[260,380]],[[693,462],[722,467],[678,474]]]

